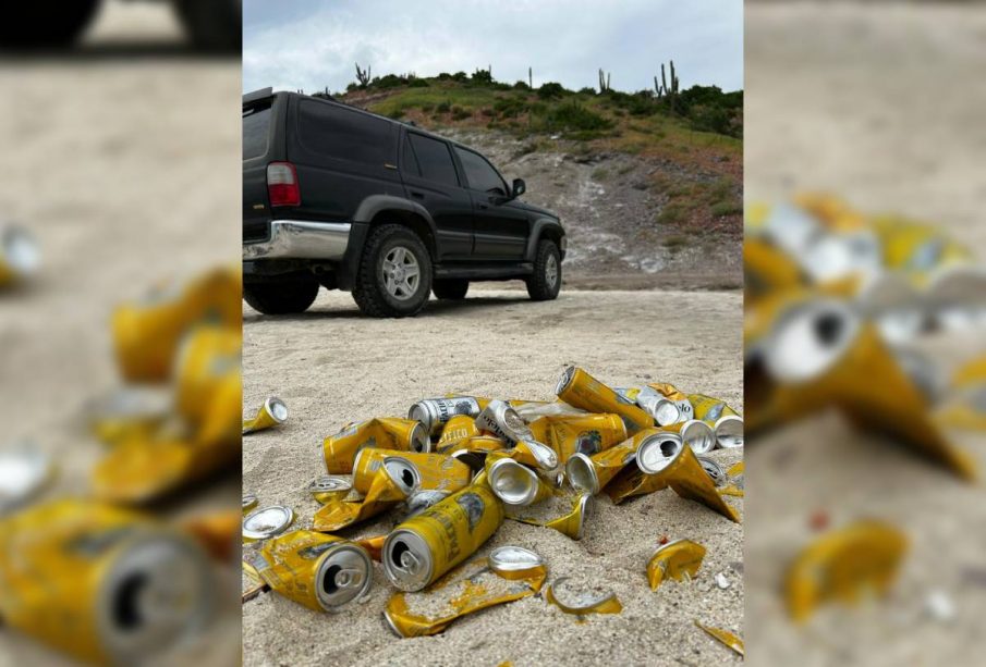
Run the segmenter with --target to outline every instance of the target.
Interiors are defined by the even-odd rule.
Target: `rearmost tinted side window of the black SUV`
[[[297,132],[308,150],[329,158],[375,166],[397,161],[390,123],[345,107],[302,100]]]

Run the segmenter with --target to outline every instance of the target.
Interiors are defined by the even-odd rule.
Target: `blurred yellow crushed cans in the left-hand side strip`
[[[4,236],[0,283],[11,257],[31,263],[24,238]],[[86,406],[104,450],[88,483],[73,483],[85,491],[59,495],[56,457],[33,442],[0,446],[3,625],[107,665],[154,662],[209,626],[215,568],[239,560],[242,516],[188,507],[190,492],[240,470],[240,283],[239,267],[218,268],[113,310],[122,384]],[[149,509],[179,493],[180,519]]]

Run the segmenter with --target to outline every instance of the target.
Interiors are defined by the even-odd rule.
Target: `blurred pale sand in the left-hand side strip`
[[[167,4],[114,2],[78,52],[0,61],[0,219],[29,228],[44,262],[28,288],[0,295],[0,441],[57,456],[51,496],[85,493],[104,454],[81,417],[119,385],[112,307],[239,261],[239,63],[183,48]],[[235,506],[239,486],[229,478],[174,510]],[[239,605],[224,619],[209,654],[239,657]],[[0,629],[0,665],[59,659]]]

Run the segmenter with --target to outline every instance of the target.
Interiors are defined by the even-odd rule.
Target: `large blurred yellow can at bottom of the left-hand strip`
[[[90,664],[134,665],[198,635],[212,564],[144,514],[61,499],[0,520],[5,626]]]

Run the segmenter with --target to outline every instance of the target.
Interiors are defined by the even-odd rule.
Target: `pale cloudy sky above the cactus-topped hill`
[[[374,75],[468,72],[497,81],[653,87],[674,60],[681,87],[743,86],[742,0],[245,0],[243,90],[345,89]]]

